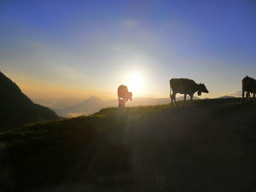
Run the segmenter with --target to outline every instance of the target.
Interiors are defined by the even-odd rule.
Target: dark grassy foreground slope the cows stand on
[[[1,191],[256,191],[256,104],[107,108],[0,135]]]

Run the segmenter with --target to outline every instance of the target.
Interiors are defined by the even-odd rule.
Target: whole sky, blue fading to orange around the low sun
[[[236,95],[255,34],[254,0],[0,0],[0,71],[33,99],[168,97],[172,78]]]

